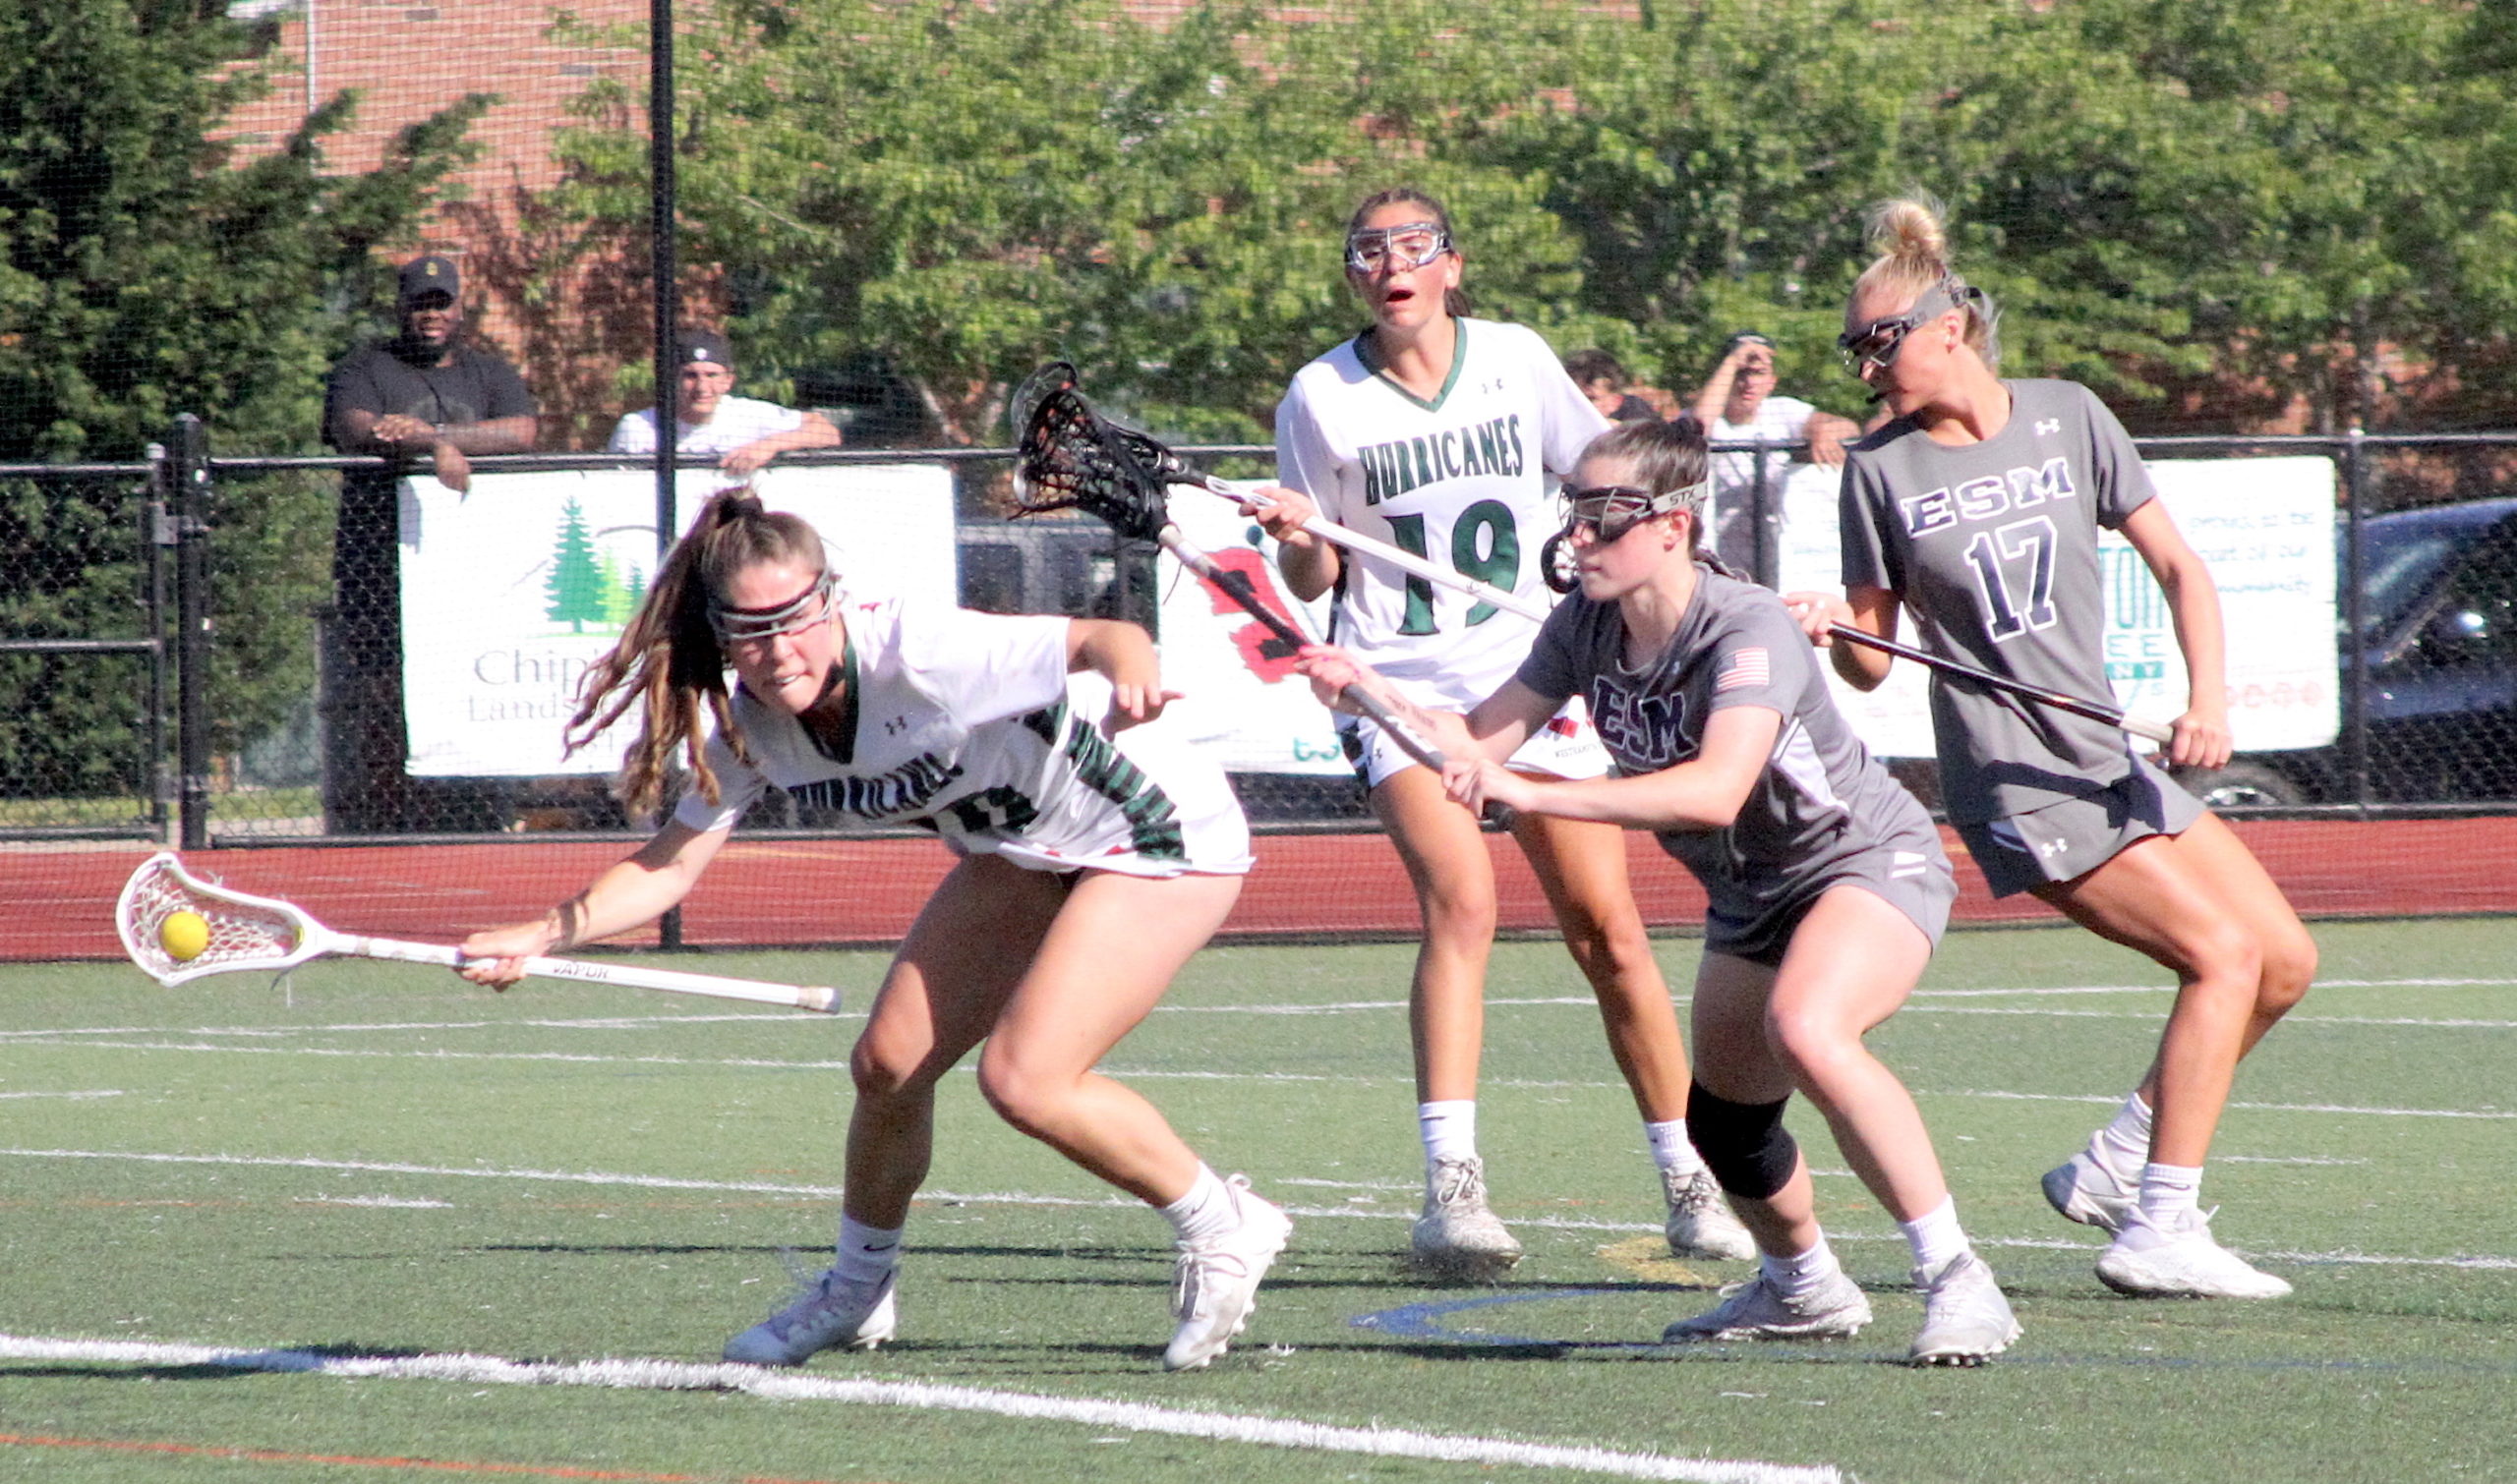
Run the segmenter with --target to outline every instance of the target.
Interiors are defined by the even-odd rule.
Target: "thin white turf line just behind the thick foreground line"
[[[0,1149],[0,1160],[126,1160],[133,1165],[224,1165],[224,1167],[254,1167],[254,1170],[322,1170],[340,1175],[418,1175],[438,1180],[521,1180],[521,1182],[554,1182],[554,1185],[602,1185],[619,1190],[722,1190],[727,1195],[780,1195],[795,1200],[838,1200],[838,1185],[793,1185],[778,1180],[680,1180],[670,1175],[619,1175],[609,1170],[481,1170],[461,1165],[400,1165],[390,1160],[284,1160],[277,1155],[149,1155],[128,1149]],[[1291,1182],[1289,1182],[1291,1185]],[[1412,1187],[1410,1187],[1412,1190]],[[1075,1195],[1029,1195],[1019,1190],[989,1190],[989,1192],[961,1192],[961,1190],[921,1190],[919,1205],[1029,1205],[1029,1207],[1065,1207],[1065,1210],[1143,1210],[1125,1195],[1102,1197],[1075,1197]],[[1304,1220],[1387,1220],[1387,1222],[1412,1222],[1415,1202],[1410,1200],[1404,1210],[1367,1210],[1357,1205],[1286,1205],[1286,1215]],[[1613,1220],[1588,1220],[1588,1217],[1550,1217],[1550,1215],[1515,1215],[1513,1225],[1548,1227],[1558,1232],[1659,1232],[1661,1222],[1613,1222]],[[1900,1232],[1827,1232],[1830,1243],[1903,1243]],[[2087,1243],[2064,1238],[1973,1238],[1978,1248],[2039,1248],[2039,1250],[2087,1250]],[[2275,1258],[2275,1253],[2245,1250],[2240,1255]],[[2517,1273],[2517,1258],[2504,1258],[2497,1253],[2484,1255],[2454,1255],[2454,1258],[2399,1258],[2384,1253],[2285,1253],[2278,1255],[2293,1263],[2351,1263],[2371,1268],[2479,1268],[2479,1270],[2509,1270]]]

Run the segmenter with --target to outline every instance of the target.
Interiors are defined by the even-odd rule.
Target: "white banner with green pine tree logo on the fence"
[[[682,526],[722,485],[685,470]],[[773,511],[808,518],[853,591],[956,594],[951,470],[934,463],[770,468]],[[654,579],[654,475],[483,473],[468,496],[403,483],[403,712],[415,777],[612,772],[629,722],[576,757],[576,687]]]

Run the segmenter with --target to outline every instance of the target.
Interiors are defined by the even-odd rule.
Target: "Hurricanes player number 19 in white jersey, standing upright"
[[[1276,475],[1289,488],[1246,508],[1281,543],[1296,596],[1337,591],[1337,641],[1432,707],[1467,707],[1510,677],[1533,624],[1342,553],[1301,523],[1316,511],[1545,604],[1538,556],[1561,526],[1556,480],[1608,425],[1538,335],[1467,317],[1460,274],[1450,216],[1432,196],[1394,189],[1354,209],[1347,284],[1372,309],[1372,327],[1294,377],[1276,410]],[[1485,1197],[1475,1122],[1493,863],[1477,817],[1442,797],[1440,777],[1367,719],[1344,717],[1342,734],[1425,918],[1410,991],[1425,1207],[1410,1253],[1440,1275],[1490,1278],[1520,1260],[1520,1243]],[[1515,765],[1588,777],[1606,770],[1606,755],[1573,707],[1540,727]],[[1623,838],[1540,815],[1515,820],[1513,838],[1598,999],[1661,1175],[1669,1248],[1749,1258],[1747,1232],[1686,1142],[1686,1044],[1634,908]]]

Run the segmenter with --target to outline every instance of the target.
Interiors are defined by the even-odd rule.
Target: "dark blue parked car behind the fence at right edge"
[[[2366,802],[2517,800],[2517,498],[2361,523]],[[2341,677],[2348,707],[2348,669]],[[2346,719],[2348,729],[2348,719]],[[2343,742],[2185,780],[2212,807],[2361,802]]]

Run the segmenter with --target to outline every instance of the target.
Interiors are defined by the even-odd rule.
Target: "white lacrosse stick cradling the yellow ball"
[[[176,958],[166,946],[166,918],[176,913],[194,913],[206,923],[206,943],[189,958]],[[131,873],[131,880],[123,883],[123,895],[113,903],[113,928],[123,936],[123,953],[131,953],[131,961],[141,971],[169,988],[204,973],[284,971],[307,958],[325,956],[443,963],[448,968],[468,963],[461,948],[446,943],[403,943],[395,938],[335,933],[300,905],[199,880],[184,870],[181,860],[164,850],[143,860]],[[184,926],[176,928],[179,941],[181,931]],[[715,973],[675,973],[670,968],[594,963],[586,958],[526,958],[524,971],[544,978],[627,983],[672,994],[785,1004],[805,1011],[838,1011],[836,988],[717,978]]]

